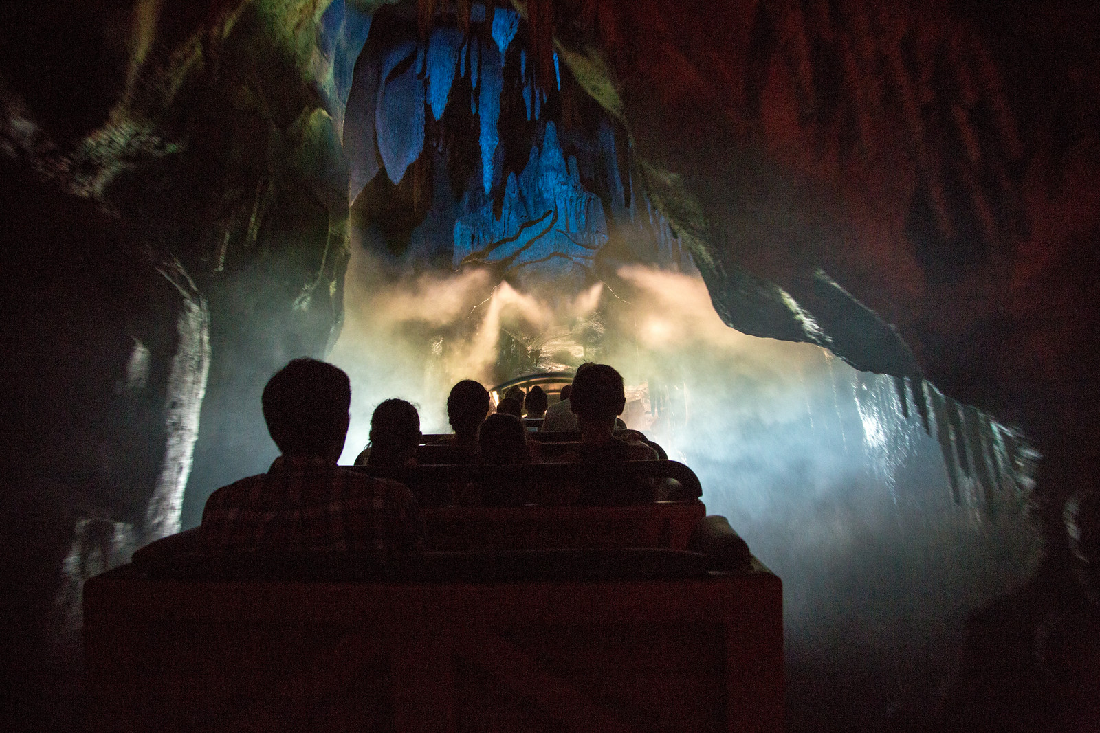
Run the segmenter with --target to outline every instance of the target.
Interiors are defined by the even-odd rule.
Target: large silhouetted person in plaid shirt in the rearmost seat
[[[283,455],[266,474],[210,495],[199,535],[210,552],[422,548],[424,522],[405,486],[337,465],[351,384],[331,364],[295,359],[264,388],[264,420]]]

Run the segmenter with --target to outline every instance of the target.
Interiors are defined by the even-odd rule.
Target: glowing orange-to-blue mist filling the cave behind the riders
[[[956,503],[939,444],[905,417],[889,377],[726,326],[695,274],[622,266],[614,289],[596,282],[561,304],[560,293],[519,292],[487,270],[380,273],[359,248],[330,356],[352,380],[341,462],[366,444],[371,412],[391,397],[417,406],[424,432],[449,432],[451,385],[493,386],[502,334],[557,341],[540,369],[612,364],[632,401],[628,424],[690,466],[707,512],[727,517],[782,578],[795,726],[873,726],[934,706],[967,614],[1034,567],[1026,503],[992,520]],[[570,346],[578,322],[598,326],[597,344]]]

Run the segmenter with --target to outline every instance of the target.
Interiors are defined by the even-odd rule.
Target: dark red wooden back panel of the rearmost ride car
[[[85,586],[88,728],[778,733],[781,584],[691,555],[128,565]]]

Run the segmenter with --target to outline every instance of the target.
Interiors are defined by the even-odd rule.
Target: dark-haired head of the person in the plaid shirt
[[[346,435],[351,380],[331,364],[294,359],[267,380],[262,402],[282,453],[324,453]]]

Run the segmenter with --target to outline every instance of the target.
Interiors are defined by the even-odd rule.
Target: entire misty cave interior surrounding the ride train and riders
[[[351,378],[341,464],[385,399],[444,433],[460,379],[614,365],[782,578],[788,730],[1100,725],[1090,3],[31,2],[0,38],[9,730],[87,722],[85,580],[267,469],[301,356]]]

